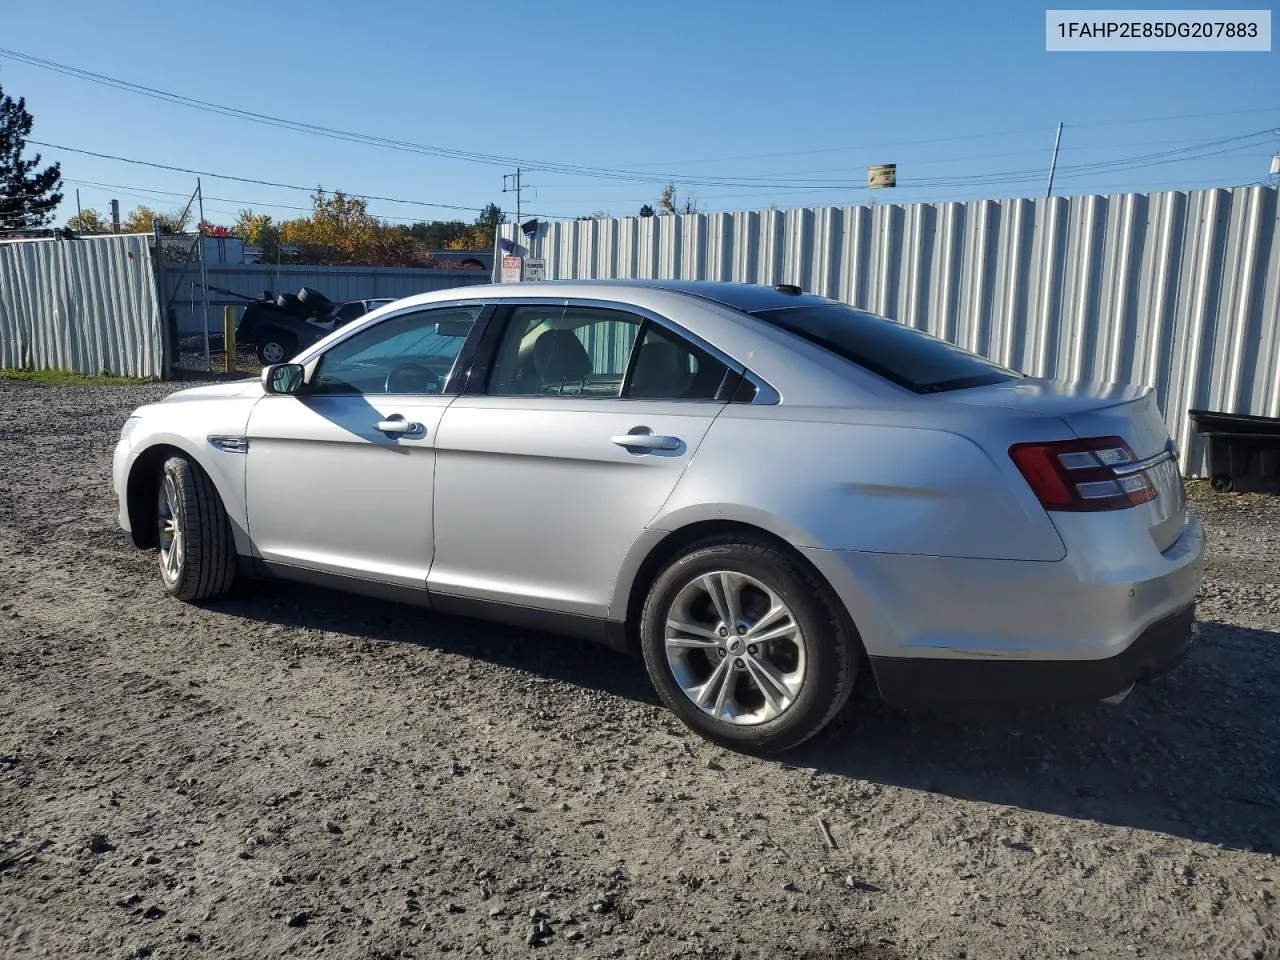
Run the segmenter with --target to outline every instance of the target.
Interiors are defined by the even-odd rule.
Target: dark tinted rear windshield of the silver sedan
[[[1021,376],[937,337],[844,303],[762,310],[753,316],[916,393],[986,387]]]

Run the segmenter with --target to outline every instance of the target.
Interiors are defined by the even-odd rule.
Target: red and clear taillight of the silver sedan
[[[1124,470],[1137,457],[1119,436],[1015,443],[1009,456],[1044,509],[1123,509],[1156,499],[1146,474]]]

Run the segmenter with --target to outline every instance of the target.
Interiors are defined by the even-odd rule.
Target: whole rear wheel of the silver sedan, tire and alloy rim
[[[829,589],[773,547],[731,536],[694,544],[649,590],[645,666],[663,701],[723,746],[795,746],[854,687],[852,625]]]

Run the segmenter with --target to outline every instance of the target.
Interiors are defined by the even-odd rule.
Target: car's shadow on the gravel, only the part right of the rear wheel
[[[876,783],[1280,852],[1280,634],[1203,623],[1119,705],[899,710],[861,698],[788,762]]]

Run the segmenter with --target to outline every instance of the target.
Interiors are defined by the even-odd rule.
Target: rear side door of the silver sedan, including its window
[[[429,589],[603,617],[741,371],[613,305],[515,303],[490,326],[484,383],[440,424]]]

